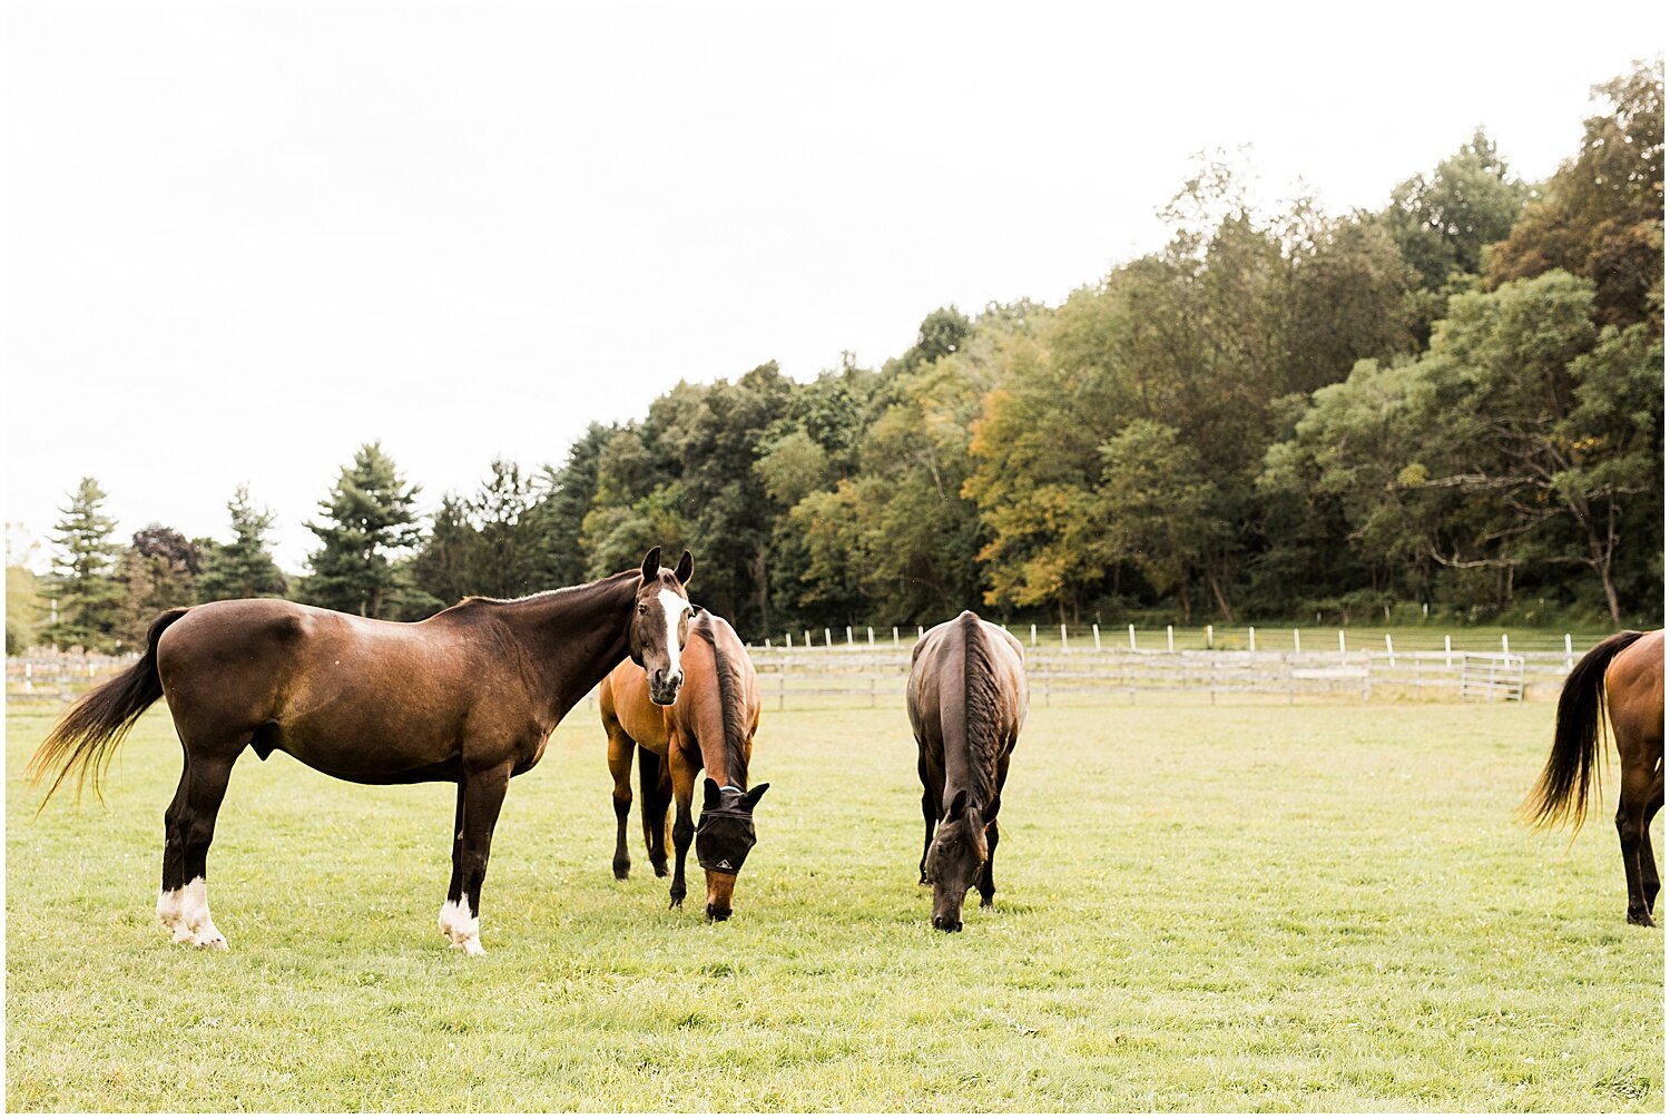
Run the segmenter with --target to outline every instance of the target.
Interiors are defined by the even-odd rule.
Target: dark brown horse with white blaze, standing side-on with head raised
[[[85,695],[28,763],[94,790],[110,753],[167,696],[185,772],[164,817],[157,917],[177,942],[227,947],[209,917],[207,860],[232,763],[274,750],[364,785],[454,782],[453,882],[441,932],[481,955],[481,884],[509,780],[621,658],[660,703],[678,695],[690,553],[514,601],[466,598],[418,623],[247,598],[170,610],[137,665]]]

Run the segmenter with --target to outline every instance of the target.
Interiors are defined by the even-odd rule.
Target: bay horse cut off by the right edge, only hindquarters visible
[[[1615,633],[1583,655],[1560,690],[1555,745],[1526,798],[1533,823],[1583,827],[1590,785],[1600,782],[1595,755],[1605,748],[1603,720],[1612,716],[1618,747],[1618,845],[1630,889],[1630,924],[1652,925],[1658,867],[1648,837],[1665,803],[1665,631]]]

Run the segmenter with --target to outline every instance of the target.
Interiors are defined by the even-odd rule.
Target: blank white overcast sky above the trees
[[[1333,212],[1475,125],[1541,179],[1663,50],[1648,3],[1129,7],[8,5],[5,519],[92,474],[225,538],[247,481],[299,571],[361,443],[429,509],[680,377],[1057,302],[1204,149]]]

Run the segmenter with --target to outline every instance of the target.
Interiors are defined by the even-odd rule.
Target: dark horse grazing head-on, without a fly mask
[[[962,899],[979,880],[992,904],[997,807],[1009,755],[1027,718],[1020,641],[962,611],[922,635],[905,685],[922,778],[922,882],[934,884],[934,927],[962,930]]]

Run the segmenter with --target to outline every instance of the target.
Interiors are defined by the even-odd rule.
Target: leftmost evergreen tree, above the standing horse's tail
[[[122,601],[115,561],[122,549],[110,538],[115,518],[100,511],[105,496],[95,479],[82,478],[70,504],[60,509],[63,519],[53,524],[58,536],[52,543],[58,554],[52,565],[52,595],[58,600],[58,620],[45,636],[58,648],[115,648],[117,606]]]

